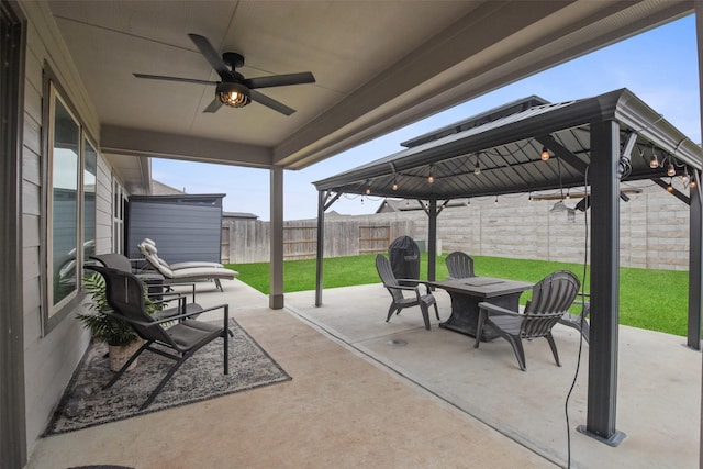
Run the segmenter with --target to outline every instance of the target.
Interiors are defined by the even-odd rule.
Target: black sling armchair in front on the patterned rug
[[[227,327],[230,323],[228,304],[220,304],[205,309],[200,308],[196,313],[183,313],[168,319],[157,320],[146,313],[144,288],[142,281],[136,276],[102,266],[90,266],[90,269],[97,271],[105,279],[108,304],[112,308],[112,311],[105,312],[105,314],[130,323],[137,335],[144,340],[144,345],[130,357],[120,371],[104,386],[104,389],[112,387],[144,350],[149,350],[175,360],[176,364],[168,370],[156,389],[152,391],[148,399],[142,404],[141,409],[144,410],[152,404],[183,361],[219,337],[222,337],[224,342],[224,373],[230,373],[227,353],[230,339],[230,330]],[[224,312],[223,323],[221,325],[191,319],[194,314],[202,314],[207,311],[219,309],[222,309]],[[166,326],[167,324],[170,326]]]

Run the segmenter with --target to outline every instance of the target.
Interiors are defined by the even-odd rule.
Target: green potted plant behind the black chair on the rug
[[[110,310],[108,295],[105,292],[105,280],[99,273],[91,273],[83,277],[86,291],[91,301],[83,303],[90,312],[81,313],[76,317],[88,328],[92,337],[108,344],[110,355],[110,369],[118,371],[130,359],[130,357],[142,346],[142,339],[134,328],[125,322],[105,314]],[[149,314],[160,310],[160,306],[146,295],[146,311]],[[136,361],[130,369],[136,366]]]

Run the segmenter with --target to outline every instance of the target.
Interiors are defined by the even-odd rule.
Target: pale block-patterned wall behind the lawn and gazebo
[[[629,194],[628,202],[620,203],[621,266],[688,270],[689,205],[651,181],[629,186],[638,187],[641,193]],[[674,187],[688,196],[678,181]],[[557,200],[511,194],[500,196],[498,201],[484,197],[471,199],[466,206],[448,206],[437,217],[438,252],[583,263],[590,250],[591,212],[573,210],[578,201],[567,199],[563,204],[571,210],[553,211]],[[258,235],[256,239],[248,235],[242,238],[246,231],[231,230],[231,261],[268,261],[268,222],[237,223],[255,224]],[[330,215],[325,217],[325,257],[358,254],[354,246],[358,250],[362,225],[388,225],[391,239],[401,235],[427,239],[428,219],[422,210]],[[316,226],[316,220],[286,222],[286,230],[297,226]]]

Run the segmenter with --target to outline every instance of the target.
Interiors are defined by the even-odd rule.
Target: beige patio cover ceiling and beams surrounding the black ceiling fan
[[[287,169],[693,9],[690,0],[48,4],[100,120],[100,145],[109,157]],[[203,113],[212,86],[132,76],[217,80],[187,33],[208,37],[219,52],[243,54],[246,63],[237,71],[246,78],[312,71],[316,82],[259,90],[295,109],[290,116],[256,102],[213,114]],[[119,160],[129,166],[133,158]],[[137,172],[143,174],[131,168]]]

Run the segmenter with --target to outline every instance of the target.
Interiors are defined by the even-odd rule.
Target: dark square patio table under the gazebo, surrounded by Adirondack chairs
[[[499,306],[517,311],[520,295],[534,283],[493,277],[468,277],[431,281],[431,286],[446,290],[451,298],[451,315],[439,327],[476,337],[479,322],[479,303],[489,301]],[[490,325],[483,327],[482,340],[492,340],[498,333]]]

